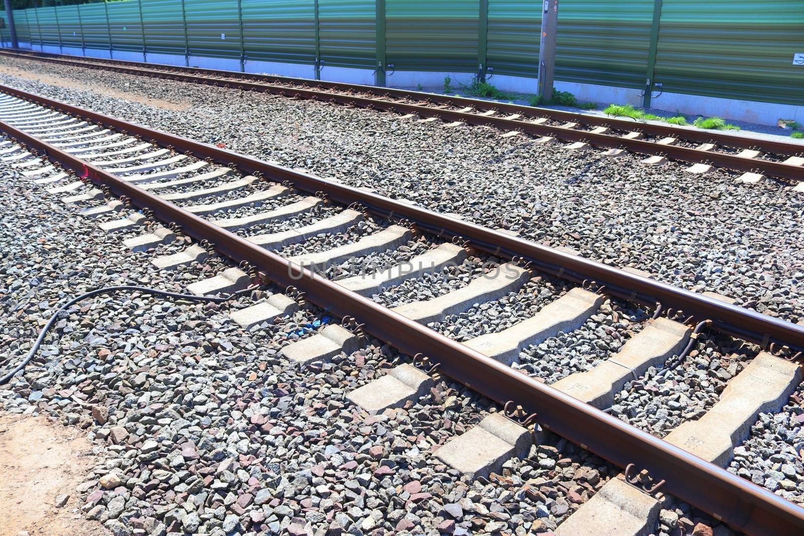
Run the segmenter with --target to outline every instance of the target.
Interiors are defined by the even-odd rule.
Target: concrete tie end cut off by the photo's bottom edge
[[[661,509],[660,501],[614,477],[553,532],[556,536],[647,536]]]

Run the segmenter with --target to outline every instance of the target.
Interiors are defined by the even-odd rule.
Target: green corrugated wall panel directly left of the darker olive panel
[[[375,0],[318,0],[321,56],[327,66],[373,68]]]

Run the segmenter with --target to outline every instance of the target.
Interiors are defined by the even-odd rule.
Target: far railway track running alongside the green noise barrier
[[[646,165],[660,165],[670,158],[693,163],[693,166],[687,168],[691,173],[706,173],[713,167],[742,171],[744,173],[739,179],[749,183],[764,177],[794,182],[804,179],[804,146],[794,142],[762,140],[674,125],[653,125],[395,88],[113,59],[78,59],[75,56],[47,53],[0,53],[73,67],[105,69],[372,108],[399,113],[400,118],[404,119],[418,117],[418,121],[425,122],[441,120],[449,126],[488,125],[505,131],[502,134],[505,137],[528,135],[536,137],[541,143],[566,141],[569,142],[568,148],[602,149],[612,157],[623,151],[645,154],[648,155],[643,160]]]

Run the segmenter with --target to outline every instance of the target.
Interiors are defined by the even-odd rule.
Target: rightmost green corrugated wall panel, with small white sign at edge
[[[802,0],[664,0],[654,79],[666,92],[804,105]]]

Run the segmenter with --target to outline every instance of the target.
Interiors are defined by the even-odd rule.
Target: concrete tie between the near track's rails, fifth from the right
[[[400,284],[404,280],[416,279],[425,273],[440,272],[450,264],[461,264],[466,259],[466,250],[453,243],[442,243],[437,248],[413,257],[403,264],[397,264],[381,272],[336,280],[339,285],[362,296],[371,296],[380,290]]]

